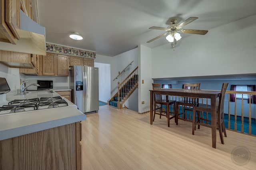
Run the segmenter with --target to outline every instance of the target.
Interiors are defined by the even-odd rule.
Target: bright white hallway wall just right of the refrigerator
[[[95,62],[94,67],[99,68],[99,100],[107,103],[111,97],[110,64]]]

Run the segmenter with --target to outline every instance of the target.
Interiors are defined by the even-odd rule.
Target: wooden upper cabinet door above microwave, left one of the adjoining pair
[[[55,75],[55,57],[54,53],[46,53],[46,56],[42,56],[42,75]]]

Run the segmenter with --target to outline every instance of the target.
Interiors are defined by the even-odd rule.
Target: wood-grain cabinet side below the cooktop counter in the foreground
[[[2,170],[81,170],[80,122],[0,141]]]

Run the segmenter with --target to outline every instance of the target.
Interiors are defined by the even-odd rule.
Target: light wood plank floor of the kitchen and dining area
[[[225,144],[217,132],[212,148],[211,130],[201,127],[192,135],[192,123],[165,117],[150,125],[149,113],[101,106],[82,122],[84,170],[256,169],[256,137],[227,131]],[[250,161],[238,166],[231,159],[237,146],[250,150]]]

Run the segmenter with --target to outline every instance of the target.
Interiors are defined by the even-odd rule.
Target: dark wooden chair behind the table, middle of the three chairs
[[[183,89],[185,90],[199,90],[200,89],[200,83],[184,83]],[[198,98],[194,97],[183,97],[181,101],[176,101],[176,113],[178,114],[178,119],[182,119],[184,121],[190,121],[190,113],[193,111],[194,105],[196,105],[199,102]],[[182,112],[180,111],[180,106],[182,106]],[[189,119],[187,118],[187,111],[189,111]],[[183,117],[179,117],[179,115],[183,115]],[[176,120],[176,124],[178,125],[178,119]]]

